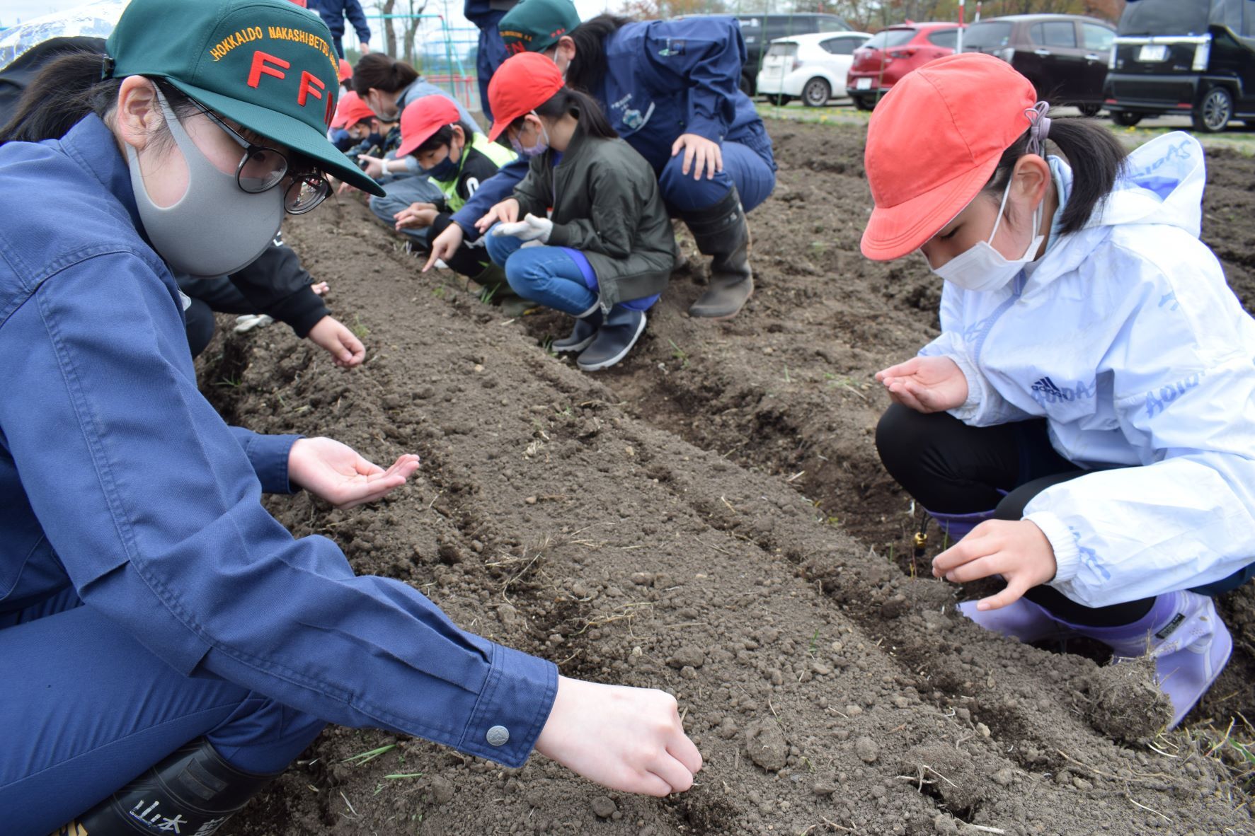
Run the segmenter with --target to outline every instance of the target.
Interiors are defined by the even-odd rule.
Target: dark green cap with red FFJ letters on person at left
[[[166,79],[210,110],[383,196],[326,138],[339,56],[316,13],[289,0],[132,0],[105,51],[107,76]]]

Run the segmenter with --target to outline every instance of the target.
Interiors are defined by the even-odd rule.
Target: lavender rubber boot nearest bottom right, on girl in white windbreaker
[[[1168,728],[1176,728],[1207,692],[1234,651],[1234,639],[1215,603],[1192,592],[1160,595],[1151,612],[1132,624],[1067,625],[1108,645],[1114,652],[1113,663],[1147,654],[1155,659],[1160,691],[1172,703]]]

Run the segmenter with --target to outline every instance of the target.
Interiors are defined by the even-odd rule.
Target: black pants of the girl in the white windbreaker
[[[1045,420],[968,426],[948,412],[924,415],[894,404],[876,426],[885,469],[930,511],[1019,520],[1024,506],[1052,485],[1088,471],[1054,451]],[[1151,612],[1153,598],[1111,607],[1084,607],[1053,587],[1025,594],[1065,622],[1087,627],[1131,624]]]

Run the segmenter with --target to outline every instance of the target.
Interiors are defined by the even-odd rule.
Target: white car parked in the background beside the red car
[[[817,33],[777,38],[763,56],[758,93],[777,104],[802,99],[818,108],[846,95],[853,51],[871,38],[865,31]]]

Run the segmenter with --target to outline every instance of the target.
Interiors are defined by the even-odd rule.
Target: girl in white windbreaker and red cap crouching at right
[[[863,253],[946,280],[941,335],[877,375],[876,444],[958,540],[934,575],[1007,582],[964,614],[1150,653],[1176,726],[1232,649],[1211,595],[1255,574],[1255,321],[1199,241],[1199,143],[1126,157],[1045,109],[976,54],[876,108]]]

